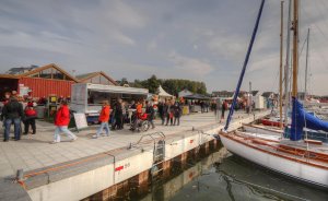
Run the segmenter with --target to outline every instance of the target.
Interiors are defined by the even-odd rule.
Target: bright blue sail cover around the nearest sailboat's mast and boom
[[[303,105],[293,97],[291,137],[293,141],[302,139],[303,128],[328,132],[328,122],[305,111]]]

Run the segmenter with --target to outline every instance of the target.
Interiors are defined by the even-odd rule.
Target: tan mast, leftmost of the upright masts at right
[[[280,20],[280,70],[279,70],[279,114],[280,114],[280,128],[282,128],[282,50],[283,50],[283,1],[281,3],[281,20]]]

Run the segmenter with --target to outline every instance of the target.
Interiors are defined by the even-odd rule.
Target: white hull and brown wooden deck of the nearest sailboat
[[[306,144],[285,144],[289,141],[270,141],[250,138],[236,131],[233,133],[220,132],[220,139],[224,146],[233,154],[239,155],[258,165],[267,167],[280,174],[328,188],[328,146],[319,146],[319,150],[306,152]],[[302,143],[302,142],[301,142]],[[305,146],[305,147],[304,147]],[[294,149],[294,151],[291,151]],[[305,154],[318,154],[323,161],[304,157]],[[293,153],[294,152],[294,153]]]

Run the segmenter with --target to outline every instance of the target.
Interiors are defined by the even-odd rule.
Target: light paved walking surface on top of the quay
[[[236,113],[235,117],[248,117],[246,114]],[[195,114],[183,116],[180,126],[165,127],[155,120],[155,129],[150,129],[148,133],[162,131],[166,137],[174,133],[190,131],[192,127],[201,128],[216,125],[213,113]],[[223,126],[223,123],[221,123]],[[81,157],[98,154],[102,152],[128,146],[130,142],[137,142],[144,132],[131,132],[126,129],[112,131],[109,137],[92,139],[97,126],[92,126],[87,130],[77,133],[79,139],[69,142],[66,137],[61,138],[61,143],[49,144],[54,139],[54,125],[37,121],[37,134],[23,135],[21,141],[0,142],[0,178],[14,175],[16,169],[24,172],[47,167],[55,164],[78,159]]]

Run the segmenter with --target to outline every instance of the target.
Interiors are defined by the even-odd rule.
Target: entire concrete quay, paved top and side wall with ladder
[[[268,114],[235,113],[230,129]],[[36,135],[24,135],[19,142],[0,143],[2,179],[11,181],[16,169],[24,169],[21,184],[11,182],[11,189],[20,193],[0,190],[0,200],[115,198],[119,187],[130,182],[129,179],[140,187],[149,180],[153,167],[163,169],[165,174],[165,169],[171,168],[171,159],[179,157],[183,162],[187,152],[200,146],[207,149],[209,142],[214,142],[213,134],[224,127],[224,122],[216,122],[213,113],[184,116],[179,127],[165,127],[159,122],[155,121],[156,129],[144,133],[125,129],[112,131],[110,137],[99,139],[91,139],[97,127],[90,127],[78,133],[75,142],[66,142],[68,139],[62,138],[63,142],[49,144],[54,126],[39,121]],[[162,150],[160,146],[163,146]],[[155,157],[160,155],[161,159]],[[4,181],[0,185],[5,185]]]

